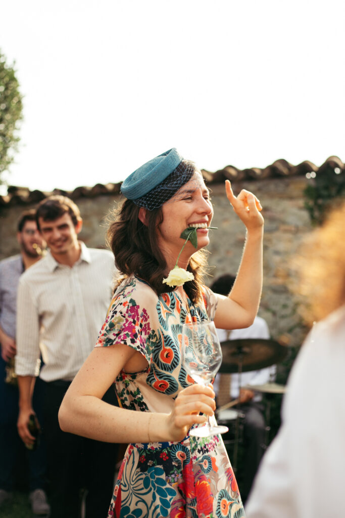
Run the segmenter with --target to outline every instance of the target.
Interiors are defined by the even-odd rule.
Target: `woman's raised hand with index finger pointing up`
[[[248,231],[262,227],[264,219],[260,213],[262,207],[258,198],[250,191],[246,191],[246,189],[242,189],[236,197],[232,192],[229,180],[225,181],[225,188],[229,202],[239,219],[241,219],[241,221],[246,225]]]

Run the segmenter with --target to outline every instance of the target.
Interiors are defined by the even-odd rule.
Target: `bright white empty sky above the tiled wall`
[[[10,0],[24,95],[11,185],[118,182],[177,147],[200,167],[345,160],[342,0]]]

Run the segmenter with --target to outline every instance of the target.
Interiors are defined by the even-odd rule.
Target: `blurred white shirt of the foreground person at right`
[[[320,324],[291,371],[282,426],[262,459],[247,518],[345,516],[345,315],[337,326]]]

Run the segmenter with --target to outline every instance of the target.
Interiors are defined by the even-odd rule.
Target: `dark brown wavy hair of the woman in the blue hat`
[[[173,288],[163,284],[167,262],[157,244],[157,229],[163,221],[162,209],[147,210],[147,226],[139,219],[139,207],[126,199],[119,210],[111,214],[107,243],[115,256],[115,264],[123,276],[117,286],[129,275],[146,281],[157,293],[167,293]],[[199,250],[189,261],[187,270],[194,279],[184,284],[188,297],[196,303],[201,297],[200,285],[206,273],[206,252]]]

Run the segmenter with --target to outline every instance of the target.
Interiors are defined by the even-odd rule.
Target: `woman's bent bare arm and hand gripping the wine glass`
[[[136,351],[124,344],[92,351],[61,404],[58,419],[64,431],[104,442],[178,441],[193,423],[205,422],[199,412],[213,414],[213,389],[197,384],[179,393],[170,414],[127,410],[102,401],[134,354]]]

